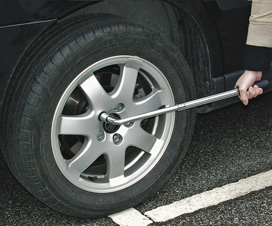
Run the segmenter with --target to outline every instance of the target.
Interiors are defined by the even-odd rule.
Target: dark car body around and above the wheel
[[[250,5],[250,1],[1,1],[0,104],[18,62],[41,33],[66,18],[99,12],[153,27],[179,46],[195,76],[197,97],[230,90],[242,73]],[[270,72],[263,79],[270,80]]]

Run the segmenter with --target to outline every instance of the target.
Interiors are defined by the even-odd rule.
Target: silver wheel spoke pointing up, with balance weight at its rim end
[[[134,64],[132,66],[134,66]],[[131,101],[133,99],[138,70],[140,67],[136,63],[134,67],[131,67],[130,65],[119,65],[119,67],[121,69],[120,78],[110,95],[113,98],[118,96],[119,99],[128,99],[128,101]]]

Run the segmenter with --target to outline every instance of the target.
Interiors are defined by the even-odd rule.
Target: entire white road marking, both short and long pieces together
[[[155,222],[167,221],[182,214],[213,206],[220,202],[234,199],[238,196],[246,195],[251,191],[258,191],[269,186],[272,186],[272,170],[239,180],[236,183],[215,188],[211,191],[193,195],[186,199],[173,202],[170,205],[160,206],[144,214]],[[147,226],[153,223],[153,221],[149,220],[134,208],[110,215],[109,217],[120,226]]]

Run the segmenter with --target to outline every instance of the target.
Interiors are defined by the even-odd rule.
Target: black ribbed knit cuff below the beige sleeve
[[[272,61],[272,48],[246,46],[244,69],[249,71],[266,71]]]

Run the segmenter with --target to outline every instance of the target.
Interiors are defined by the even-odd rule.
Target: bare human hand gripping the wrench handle
[[[240,91],[240,100],[244,105],[248,104],[248,99],[258,96],[263,93],[263,89],[258,86],[252,87],[254,82],[261,80],[262,72],[261,71],[248,71],[246,70],[244,74],[237,80],[234,88],[239,86]],[[248,91],[247,91],[248,89]]]

